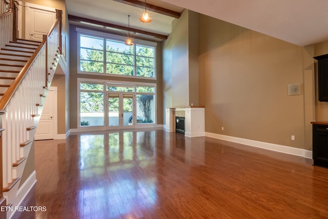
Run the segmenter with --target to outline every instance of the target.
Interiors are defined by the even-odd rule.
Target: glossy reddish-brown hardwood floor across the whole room
[[[36,186],[14,218],[328,218],[312,160],[161,129],[35,142]]]

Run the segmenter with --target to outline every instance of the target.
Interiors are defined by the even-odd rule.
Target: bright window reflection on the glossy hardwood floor
[[[79,174],[83,180],[77,202],[83,215],[101,211],[102,205],[93,208],[93,202],[99,198],[111,206],[109,211],[113,217],[133,213],[134,205],[147,203],[151,207],[156,203],[155,177],[139,173],[152,168],[154,137],[155,131],[79,136]]]

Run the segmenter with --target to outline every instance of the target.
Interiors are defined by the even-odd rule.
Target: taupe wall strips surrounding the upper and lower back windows
[[[157,124],[163,124],[163,89],[162,89],[162,48],[161,42],[157,43],[156,49],[156,77],[157,79],[144,79],[144,78],[121,78],[109,75],[95,75],[95,74],[78,74],[77,73],[77,32],[75,25],[70,25],[70,129],[77,128],[77,78],[92,78],[108,81],[126,81],[126,82],[143,82],[143,83],[156,83],[156,104],[157,104]],[[85,27],[80,27],[85,28]],[[89,28],[90,29],[90,28]],[[90,29],[95,31],[102,31],[99,29]],[[103,31],[104,32],[104,31]],[[106,32],[105,32],[106,33]],[[108,33],[108,32],[107,32]]]

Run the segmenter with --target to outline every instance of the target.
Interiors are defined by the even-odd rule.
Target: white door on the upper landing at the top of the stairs
[[[56,9],[26,3],[25,38],[42,41],[56,21]]]

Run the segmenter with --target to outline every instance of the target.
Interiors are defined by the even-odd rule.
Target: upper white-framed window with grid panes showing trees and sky
[[[155,77],[153,45],[79,33],[79,72]]]

